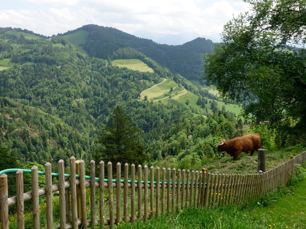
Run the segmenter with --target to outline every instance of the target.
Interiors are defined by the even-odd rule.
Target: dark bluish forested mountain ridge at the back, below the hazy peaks
[[[200,79],[203,77],[203,54],[213,52],[214,44],[205,38],[196,38],[183,45],[164,45],[149,39],[137,38],[134,35],[122,32],[112,27],[98,25],[85,25],[73,31],[59,35],[71,35],[79,32],[88,38],[84,43],[78,43],[90,56],[107,59],[118,59],[116,51],[130,47],[143,53],[169,68],[172,72],[179,73],[186,79]],[[120,58],[119,58],[120,59]],[[130,59],[130,58],[126,58]]]

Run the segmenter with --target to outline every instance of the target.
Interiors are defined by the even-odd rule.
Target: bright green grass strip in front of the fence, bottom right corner
[[[121,224],[118,228],[245,228],[282,229],[306,227],[306,179],[295,187],[280,187],[260,200],[215,209],[189,207],[144,222]],[[272,201],[266,206],[266,199]]]

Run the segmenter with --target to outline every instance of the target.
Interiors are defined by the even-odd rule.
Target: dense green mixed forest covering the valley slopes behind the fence
[[[155,73],[88,57],[60,37],[28,40],[3,33],[0,56],[13,63],[0,71],[0,144],[21,167],[28,162],[55,165],[59,159],[67,165],[72,155],[88,161],[101,147],[97,136],[111,123],[117,105],[140,129],[143,160],[152,165],[201,166],[222,156],[215,150],[219,140],[241,135],[235,115],[225,110],[194,117],[190,108],[138,101],[141,91],[163,77],[203,98],[214,97],[144,54],[140,59]],[[8,166],[13,165],[3,169]]]

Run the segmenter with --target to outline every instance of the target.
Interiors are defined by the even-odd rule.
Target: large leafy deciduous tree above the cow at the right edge
[[[230,20],[205,60],[208,84],[246,104],[244,118],[272,128],[306,125],[306,2],[245,0],[250,11]]]

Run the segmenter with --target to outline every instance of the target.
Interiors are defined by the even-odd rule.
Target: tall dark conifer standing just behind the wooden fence
[[[120,106],[110,114],[111,124],[102,127],[97,143],[102,147],[95,152],[94,158],[110,161],[114,165],[120,162],[135,165],[146,159],[145,147],[141,139],[140,129],[131,124],[131,118]]]

